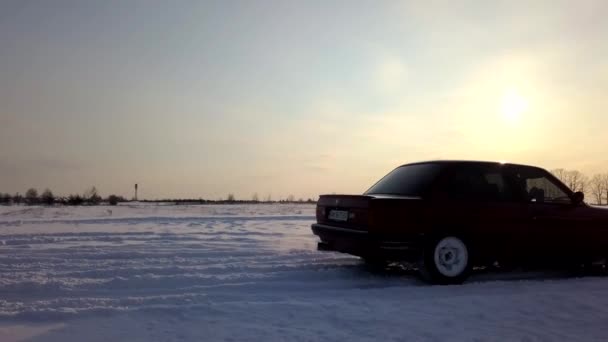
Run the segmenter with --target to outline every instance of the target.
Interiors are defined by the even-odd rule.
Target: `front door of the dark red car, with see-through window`
[[[538,168],[522,168],[518,177],[527,198],[530,261],[562,263],[595,249],[591,222],[565,185]]]

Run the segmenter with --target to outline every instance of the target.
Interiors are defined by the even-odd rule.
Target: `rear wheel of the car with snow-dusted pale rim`
[[[472,269],[471,250],[464,239],[441,235],[424,247],[418,270],[422,278],[439,285],[462,284]]]

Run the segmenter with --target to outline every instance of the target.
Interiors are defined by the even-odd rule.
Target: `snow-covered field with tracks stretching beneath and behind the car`
[[[0,207],[0,341],[605,341],[608,278],[427,286],[305,205]]]

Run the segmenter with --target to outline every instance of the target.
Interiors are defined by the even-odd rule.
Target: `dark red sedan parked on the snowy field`
[[[415,262],[432,283],[474,266],[588,265],[608,257],[608,210],[534,166],[429,161],[400,166],[363,195],[323,195],[319,250]]]

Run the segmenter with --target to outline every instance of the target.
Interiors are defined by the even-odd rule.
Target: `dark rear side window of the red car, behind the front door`
[[[446,194],[455,201],[502,202],[514,200],[502,172],[478,166],[457,167],[446,181]]]

